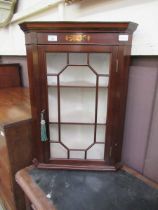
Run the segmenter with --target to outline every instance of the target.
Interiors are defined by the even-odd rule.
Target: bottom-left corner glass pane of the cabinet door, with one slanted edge
[[[50,144],[51,158],[67,158],[67,150],[60,143]]]

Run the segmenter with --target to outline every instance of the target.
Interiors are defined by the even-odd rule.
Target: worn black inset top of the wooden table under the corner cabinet
[[[57,210],[157,210],[158,189],[118,172],[30,172]]]

